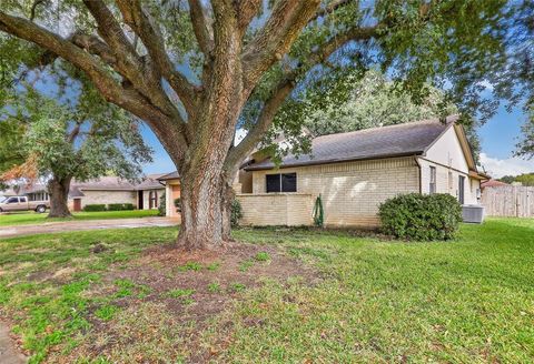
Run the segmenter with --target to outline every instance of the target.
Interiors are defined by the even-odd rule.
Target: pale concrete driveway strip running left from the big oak
[[[1,226],[0,239],[33,234],[61,233],[67,231],[176,226],[179,223],[180,220],[177,218],[136,218],[112,220],[60,221],[36,225]]]

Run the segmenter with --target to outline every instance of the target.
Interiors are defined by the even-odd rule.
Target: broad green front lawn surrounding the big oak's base
[[[317,272],[313,282],[266,277],[255,287],[225,285],[225,261],[139,257],[175,235],[154,228],[0,242],[0,305],[32,362],[534,361],[534,220],[492,219],[431,243],[238,230],[237,240]],[[95,244],[106,250],[97,254]],[[267,272],[275,256],[266,252],[240,257],[235,274]],[[194,281],[159,293],[165,279],[195,274],[212,279],[201,294]],[[195,311],[211,294],[230,300],[200,322]]]

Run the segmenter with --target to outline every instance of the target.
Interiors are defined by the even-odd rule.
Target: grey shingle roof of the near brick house
[[[289,154],[283,159],[280,166],[423,154],[456,120],[457,117],[449,117],[446,122],[431,119],[317,136],[312,141],[312,155],[296,156]],[[245,170],[268,170],[273,168],[275,168],[275,163],[265,160],[253,163]]]

